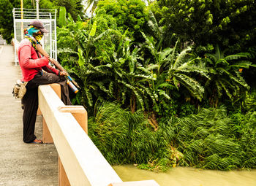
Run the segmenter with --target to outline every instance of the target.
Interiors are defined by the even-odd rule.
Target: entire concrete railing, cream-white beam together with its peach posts
[[[60,95],[59,85],[53,85]],[[59,185],[158,185],[154,180],[122,182],[87,136],[86,110],[83,106],[65,106],[50,85],[39,86],[39,109],[45,133],[50,136],[45,139],[54,142],[59,153],[59,171],[64,171],[59,172]]]

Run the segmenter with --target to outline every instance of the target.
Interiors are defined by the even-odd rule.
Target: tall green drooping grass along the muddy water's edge
[[[143,112],[132,114],[105,102],[89,118],[89,136],[110,164],[132,163],[154,171],[173,166],[256,168],[256,112],[244,118],[240,135],[224,107],[170,117],[154,131]]]

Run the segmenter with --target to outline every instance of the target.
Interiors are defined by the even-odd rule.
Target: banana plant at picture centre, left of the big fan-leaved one
[[[145,68],[140,61],[139,49],[131,50],[132,43],[124,38],[118,46],[117,53],[113,53],[110,68],[114,72],[117,82],[118,98],[122,104],[129,100],[129,107],[134,113],[137,109],[148,109],[148,102],[156,103],[154,93],[148,88],[148,82],[154,80],[151,71]]]

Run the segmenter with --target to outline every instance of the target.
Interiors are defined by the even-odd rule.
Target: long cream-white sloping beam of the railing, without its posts
[[[70,185],[122,182],[91,139],[68,112],[50,85],[39,86],[39,107],[48,125]]]

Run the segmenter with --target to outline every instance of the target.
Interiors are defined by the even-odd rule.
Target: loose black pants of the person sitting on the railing
[[[66,105],[71,104],[69,100],[69,88],[65,77],[46,72],[37,74],[26,85],[26,94],[23,96],[23,142],[30,143],[37,138],[34,135],[34,126],[37,119],[38,86],[55,82],[61,85],[61,100]]]

